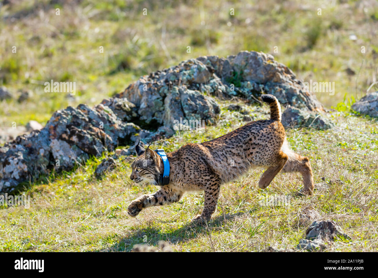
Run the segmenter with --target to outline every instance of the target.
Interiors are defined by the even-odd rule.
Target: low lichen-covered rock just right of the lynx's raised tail
[[[284,127],[312,127],[314,129],[329,129],[333,124],[324,118],[321,112],[288,107],[282,113],[282,125]]]

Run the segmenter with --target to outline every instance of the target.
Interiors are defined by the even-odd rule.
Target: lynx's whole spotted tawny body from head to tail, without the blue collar
[[[279,102],[273,95],[263,95],[262,100],[270,105],[270,120],[252,121],[214,140],[186,144],[168,153],[169,184],[134,200],[129,205],[129,215],[135,217],[143,208],[178,202],[185,191],[204,190],[204,209],[195,220],[209,220],[217,205],[220,186],[238,179],[254,166],[267,168],[259,180],[262,189],[282,170],[300,172],[304,192],[311,194],[314,182],[310,162],[289,149],[280,122]],[[132,163],[130,179],[158,185],[164,171],[163,160],[139,143],[135,149],[138,158]]]

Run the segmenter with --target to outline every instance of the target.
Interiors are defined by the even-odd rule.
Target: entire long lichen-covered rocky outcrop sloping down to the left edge
[[[269,54],[242,51],[227,58],[190,59],[142,76],[96,107],[59,110],[40,131],[6,143],[0,148],[0,192],[52,170],[68,171],[118,145],[169,137],[175,121],[215,123],[220,109],[214,97],[258,101],[262,92],[275,95],[283,106],[323,110],[302,81]]]

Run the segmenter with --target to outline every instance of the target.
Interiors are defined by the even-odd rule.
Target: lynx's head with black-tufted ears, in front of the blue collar
[[[135,151],[138,157],[131,164],[130,179],[136,183],[149,182],[157,185],[160,180],[158,154],[150,149],[150,146],[147,149],[139,146],[139,142],[135,146]]]

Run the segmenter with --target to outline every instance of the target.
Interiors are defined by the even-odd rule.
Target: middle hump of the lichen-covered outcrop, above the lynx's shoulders
[[[211,96],[225,86],[208,67],[196,59],[139,78],[117,98],[127,98],[137,107],[139,120],[150,126],[173,127],[174,120],[205,120],[214,123],[220,112]]]

